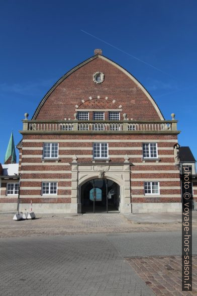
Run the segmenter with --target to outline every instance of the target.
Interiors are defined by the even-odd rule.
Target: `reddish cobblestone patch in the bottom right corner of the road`
[[[181,256],[127,258],[156,295],[197,295],[197,256],[192,256],[192,291],[181,290],[181,260]]]

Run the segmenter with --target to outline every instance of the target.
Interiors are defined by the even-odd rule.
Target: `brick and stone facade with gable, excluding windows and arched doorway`
[[[96,71],[105,74],[101,84],[93,82]],[[144,130],[54,130],[58,121],[65,120],[74,126],[80,110],[89,112],[91,122],[94,110],[103,110],[107,127],[109,111],[116,110],[121,126],[127,121],[138,126],[141,121]],[[35,211],[80,212],[82,186],[88,180],[100,178],[100,169],[104,169],[103,178],[120,186],[121,212],[180,210],[180,175],[173,150],[179,132],[173,128],[153,130],[153,125],[156,128],[156,124],[165,122],[156,103],[135,78],[111,60],[95,55],[68,72],[44,97],[32,120],[24,120],[26,128],[21,131],[23,139],[19,145],[22,209],[32,200]],[[41,122],[39,128],[32,125],[28,129],[28,124],[40,121],[50,121],[53,127],[43,128]],[[108,160],[94,160],[94,142],[108,143]],[[158,157],[144,160],[143,143],[152,142],[157,143]],[[58,143],[58,159],[43,158],[44,143]],[[158,194],[145,194],[144,182],[149,181],[159,182]],[[43,195],[43,182],[57,182],[57,194]],[[1,197],[1,202],[14,200],[6,192]]]

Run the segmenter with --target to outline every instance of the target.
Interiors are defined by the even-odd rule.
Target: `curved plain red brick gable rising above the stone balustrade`
[[[93,82],[92,74],[96,71],[105,73],[102,84],[96,85]],[[104,100],[106,97],[109,101]],[[89,100],[92,101],[90,103],[87,98],[97,99]],[[99,100],[102,101],[99,103]],[[114,61],[99,54],[85,60],[60,78],[44,96],[32,119],[74,119],[76,108],[82,108],[86,101],[89,106],[105,103],[106,109],[117,109],[121,105],[122,112],[134,120],[164,120],[153,98],[135,77]],[[115,108],[109,104],[113,101],[116,102]]]

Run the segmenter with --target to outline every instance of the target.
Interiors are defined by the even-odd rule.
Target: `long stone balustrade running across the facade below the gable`
[[[177,121],[40,121],[23,120],[21,133],[174,133],[178,134]]]

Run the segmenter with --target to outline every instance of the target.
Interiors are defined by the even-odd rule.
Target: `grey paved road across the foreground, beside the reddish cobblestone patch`
[[[0,294],[153,295],[124,257],[180,254],[180,247],[179,232],[2,238]]]

